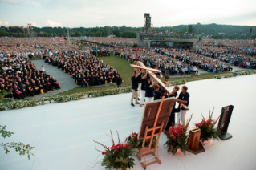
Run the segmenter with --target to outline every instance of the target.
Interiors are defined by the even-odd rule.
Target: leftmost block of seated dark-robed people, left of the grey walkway
[[[54,77],[38,71],[30,59],[9,58],[0,64],[0,91],[10,92],[6,97],[24,99],[60,88]]]

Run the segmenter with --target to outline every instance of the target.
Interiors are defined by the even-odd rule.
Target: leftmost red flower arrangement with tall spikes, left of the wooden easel
[[[135,160],[132,158],[133,149],[128,144],[121,144],[118,132],[118,144],[115,144],[112,131],[110,131],[110,133],[112,139],[112,147],[110,148],[93,140],[95,143],[100,144],[105,149],[104,151],[100,151],[95,148],[97,151],[101,152],[102,155],[104,155],[101,165],[106,166],[106,169],[114,168],[126,170],[127,168],[133,168],[133,165],[135,165]]]

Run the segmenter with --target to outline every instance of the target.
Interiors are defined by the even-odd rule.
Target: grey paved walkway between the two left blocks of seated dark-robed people
[[[47,65],[47,63],[44,63],[43,59],[32,60],[32,63],[34,63],[37,69],[39,69],[43,65],[45,67],[46,72],[49,73],[49,75],[55,77],[55,79],[57,79],[57,82],[59,83],[61,89],[48,91],[47,93],[41,95],[34,95],[34,97],[26,97],[25,99],[40,99],[43,97],[50,97],[52,95],[59,94],[63,91],[68,91],[75,87],[79,87],[75,84],[75,81],[74,79],[72,79],[72,76],[67,75],[67,73],[64,73],[63,71],[58,69],[58,67]]]

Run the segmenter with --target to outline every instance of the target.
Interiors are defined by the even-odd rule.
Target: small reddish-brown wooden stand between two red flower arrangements
[[[205,148],[200,142],[201,130],[200,128],[194,128],[189,131],[189,140],[188,140],[188,147],[187,150],[192,152],[193,154],[197,154],[200,152],[204,152]]]

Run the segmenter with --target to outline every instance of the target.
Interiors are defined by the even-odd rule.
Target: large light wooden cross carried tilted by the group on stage
[[[161,85],[161,87],[164,87],[166,91],[169,91],[169,93],[172,93],[172,91],[170,91],[168,87],[165,87],[165,84],[161,81],[161,79],[158,79],[158,78],[156,77],[155,72],[161,73],[161,71],[156,70],[156,69],[153,69],[153,68],[148,68],[148,67],[146,67],[146,66],[144,65],[144,63],[139,62],[139,61],[137,61],[137,65],[130,64],[130,66],[133,67],[133,68],[136,68],[136,69],[148,71],[148,74],[151,75],[152,78],[155,79],[156,82],[158,82],[158,83]]]

